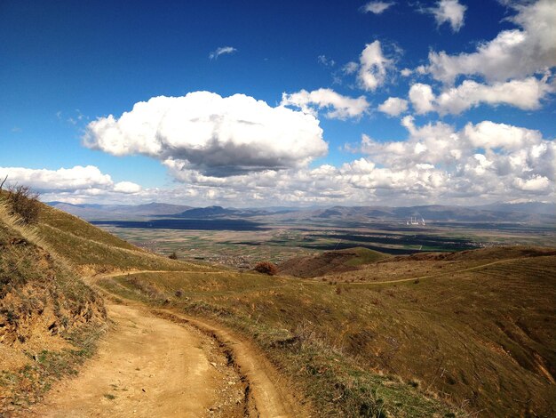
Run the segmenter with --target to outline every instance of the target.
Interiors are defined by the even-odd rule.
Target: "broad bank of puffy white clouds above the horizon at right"
[[[556,144],[538,131],[490,121],[456,131],[441,122],[417,126],[413,117],[404,117],[401,124],[409,132],[406,141],[380,142],[363,135],[359,149],[388,169],[398,185],[427,184],[416,172],[425,170],[433,181],[428,184],[435,186],[424,186],[424,196],[444,201],[555,197]]]

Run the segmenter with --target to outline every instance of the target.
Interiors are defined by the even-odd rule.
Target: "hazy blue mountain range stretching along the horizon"
[[[323,208],[254,208],[236,209],[222,206],[191,207],[151,203],[147,205],[72,205],[49,202],[62,211],[83,219],[123,220],[145,217],[182,219],[264,218],[266,221],[418,221],[523,222],[552,223],[556,226],[556,205],[541,202],[496,203],[473,207],[450,205],[419,206],[331,206]]]

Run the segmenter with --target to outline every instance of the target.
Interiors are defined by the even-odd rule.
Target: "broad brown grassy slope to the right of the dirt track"
[[[322,414],[553,416],[556,256],[504,252],[385,260],[311,280],[168,273],[104,285],[253,335]]]

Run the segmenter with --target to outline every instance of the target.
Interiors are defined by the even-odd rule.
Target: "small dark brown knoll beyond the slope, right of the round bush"
[[[280,273],[295,277],[320,277],[359,269],[365,264],[385,260],[390,255],[367,248],[355,247],[326,251],[310,257],[295,257],[280,264]]]

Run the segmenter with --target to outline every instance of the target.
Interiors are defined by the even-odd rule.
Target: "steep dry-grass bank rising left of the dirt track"
[[[72,373],[105,321],[97,293],[0,205],[0,415]]]

